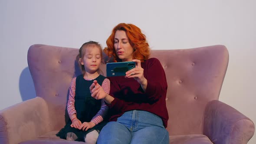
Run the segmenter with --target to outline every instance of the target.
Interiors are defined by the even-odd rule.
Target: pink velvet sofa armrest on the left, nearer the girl
[[[17,144],[49,131],[43,98],[33,98],[0,111],[0,144]]]

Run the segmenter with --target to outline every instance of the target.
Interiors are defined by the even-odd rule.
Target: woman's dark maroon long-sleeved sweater
[[[145,92],[133,78],[108,77],[109,95],[115,98],[109,105],[109,121],[116,121],[125,111],[142,110],[158,115],[166,128],[169,117],[165,102],[167,82],[164,69],[156,58],[141,62],[141,67],[144,69],[144,77],[148,80]]]

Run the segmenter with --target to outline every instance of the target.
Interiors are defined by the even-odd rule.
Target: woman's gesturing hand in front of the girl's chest
[[[92,94],[92,98],[95,98],[95,99],[102,99],[107,96],[102,86],[99,85],[96,80],[94,80],[92,85],[90,86],[90,92]]]

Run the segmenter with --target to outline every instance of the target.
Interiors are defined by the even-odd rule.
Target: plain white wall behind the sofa
[[[118,23],[140,27],[152,49],[225,45],[230,62],[220,100],[256,123],[255,0],[0,0],[0,109],[34,98],[33,44],[79,48]],[[249,144],[255,144],[255,136]]]

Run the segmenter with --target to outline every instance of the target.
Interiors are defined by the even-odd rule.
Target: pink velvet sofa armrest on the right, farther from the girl
[[[214,144],[247,144],[254,130],[253,121],[221,101],[210,101],[204,110],[203,134]]]

